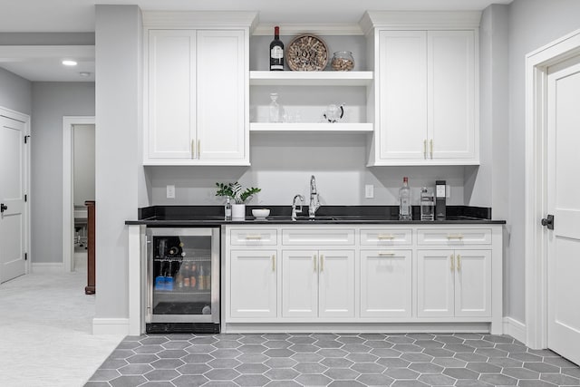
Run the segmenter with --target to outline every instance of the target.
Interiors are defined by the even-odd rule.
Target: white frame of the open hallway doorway
[[[74,269],[73,129],[74,125],[91,124],[95,124],[94,116],[63,116],[63,267],[65,272],[72,272]]]

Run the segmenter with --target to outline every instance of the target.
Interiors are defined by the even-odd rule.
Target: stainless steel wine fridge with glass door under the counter
[[[219,227],[148,227],[145,332],[219,332]]]

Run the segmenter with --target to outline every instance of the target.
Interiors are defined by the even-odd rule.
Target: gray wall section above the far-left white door
[[[32,83],[0,68],[0,106],[30,115],[32,105]]]

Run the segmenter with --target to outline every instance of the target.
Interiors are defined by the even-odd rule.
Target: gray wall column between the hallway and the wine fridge
[[[125,220],[140,203],[141,35],[136,5],[96,5],[95,318],[128,316]]]

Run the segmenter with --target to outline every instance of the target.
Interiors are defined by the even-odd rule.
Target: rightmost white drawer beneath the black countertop
[[[418,245],[490,245],[490,228],[419,228]]]

